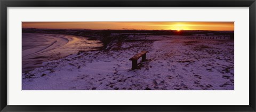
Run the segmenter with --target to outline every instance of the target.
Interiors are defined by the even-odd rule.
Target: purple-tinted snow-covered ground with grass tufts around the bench
[[[143,39],[44,62],[22,73],[22,90],[234,90],[234,40]],[[147,61],[133,70],[129,58],[141,51]]]

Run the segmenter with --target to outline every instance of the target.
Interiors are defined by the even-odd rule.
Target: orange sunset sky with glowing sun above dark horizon
[[[22,22],[22,28],[234,31],[234,22]]]

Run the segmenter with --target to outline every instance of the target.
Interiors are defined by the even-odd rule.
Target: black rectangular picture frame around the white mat
[[[255,111],[255,0],[0,0],[1,111]],[[7,104],[7,7],[250,7],[249,106],[9,106]]]

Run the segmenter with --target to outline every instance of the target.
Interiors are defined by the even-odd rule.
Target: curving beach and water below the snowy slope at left
[[[101,44],[86,37],[63,34],[22,33],[22,40],[22,73],[42,67],[44,61],[58,60],[79,50],[99,49]],[[95,45],[86,47],[84,43]]]

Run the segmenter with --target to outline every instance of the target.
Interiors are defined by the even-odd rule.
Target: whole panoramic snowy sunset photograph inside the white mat
[[[22,90],[234,90],[234,22],[22,22]]]

